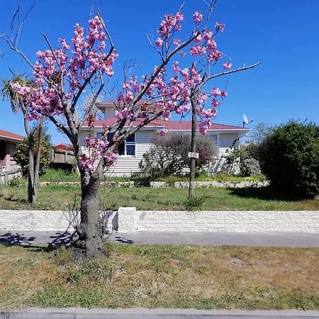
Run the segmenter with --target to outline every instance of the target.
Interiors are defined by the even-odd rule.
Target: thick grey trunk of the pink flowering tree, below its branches
[[[81,174],[83,175],[83,174]],[[86,184],[86,178],[89,183]],[[79,235],[74,243],[76,252],[85,257],[96,257],[103,252],[102,229],[99,216],[100,174],[81,176],[81,223],[77,227]]]

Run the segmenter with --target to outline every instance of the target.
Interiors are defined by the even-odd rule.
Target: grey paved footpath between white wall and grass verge
[[[0,230],[0,244],[5,245],[65,245],[74,240],[69,233],[56,231],[6,231]],[[108,240],[125,244],[193,244],[193,245],[240,245],[272,247],[319,247],[319,233],[210,233],[174,232],[154,233],[113,232]]]

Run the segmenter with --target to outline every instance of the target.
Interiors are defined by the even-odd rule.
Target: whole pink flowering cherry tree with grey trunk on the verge
[[[221,62],[219,73],[211,73],[223,59],[216,45],[216,35],[225,28],[220,22],[209,28],[215,4],[216,0],[211,1],[206,13],[196,11],[193,14],[193,26],[186,39],[179,38],[184,22],[182,8],[175,14],[164,16],[157,30],[158,38],[148,39],[159,55],[159,65],[141,78],[124,76],[123,86],[114,101],[116,121],[104,129],[101,138],[92,134],[85,138],[89,152],[82,150],[79,128],[85,121],[89,128],[93,128],[95,118],[91,108],[106,79],[113,77],[113,63],[118,57],[101,16],[98,14],[91,18],[85,32],[77,24],[71,42],[61,38],[57,48],[52,47],[44,35],[48,49],[37,52],[35,64],[16,47],[13,40],[4,37],[33,69],[35,86],[17,83],[12,87],[28,104],[28,118],[46,116],[67,135],[74,147],[82,189],[81,223],[77,228],[79,239],[75,245],[86,256],[96,256],[102,251],[98,190],[103,170],[116,162],[121,142],[159,117],[169,119],[172,113],[184,116],[189,111],[195,118],[194,125],[198,121],[199,131],[205,135],[227,92],[218,87],[206,91],[203,86],[216,77],[259,64],[232,69],[231,62],[225,60]],[[183,60],[185,56],[187,60]],[[186,63],[184,61],[191,61],[190,65],[181,67]],[[93,98],[79,120],[76,110],[85,89],[91,90]],[[137,118],[140,121],[136,121]],[[108,138],[108,133],[112,133],[111,138]],[[159,134],[167,134],[167,128]]]

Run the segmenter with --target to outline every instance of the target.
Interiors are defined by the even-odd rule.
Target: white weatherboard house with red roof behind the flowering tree
[[[94,135],[98,138],[103,133],[103,127],[108,127],[116,123],[114,117],[116,108],[113,103],[103,102],[97,105],[104,113],[104,119],[94,123]],[[137,119],[134,125],[138,125],[143,118]],[[169,133],[191,133],[191,121],[164,121],[155,120],[147,124],[144,128],[138,130],[135,135],[121,145],[119,157],[116,164],[111,168],[113,176],[128,176],[133,172],[139,172],[139,163],[142,156],[152,146],[152,137],[157,134],[162,128],[167,128]],[[218,172],[221,164],[223,164],[223,155],[235,142],[235,147],[239,146],[239,138],[244,136],[249,131],[248,128],[239,126],[224,125],[213,123],[208,130],[207,135],[210,136],[216,144],[216,163],[210,167],[211,173]],[[198,133],[199,134],[199,133]],[[79,132],[81,145],[84,147],[84,138],[89,135],[89,127],[86,123],[82,125]]]

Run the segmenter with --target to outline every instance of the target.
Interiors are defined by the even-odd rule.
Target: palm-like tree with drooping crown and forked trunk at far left
[[[11,103],[11,109],[14,113],[22,111],[23,113],[23,124],[26,131],[26,138],[28,139],[28,203],[35,204],[38,198],[38,180],[39,180],[39,168],[40,168],[40,155],[41,155],[41,144],[43,139],[43,121],[44,117],[40,118],[40,122],[35,128],[30,128],[27,114],[29,111],[26,100],[12,89],[11,84],[26,84],[28,86],[34,85],[34,82],[21,74],[13,74],[13,78],[2,81],[1,95],[3,99],[8,99]],[[37,130],[38,128],[38,130]],[[34,144],[35,144],[35,132],[38,132],[38,150],[36,161],[34,161]]]

